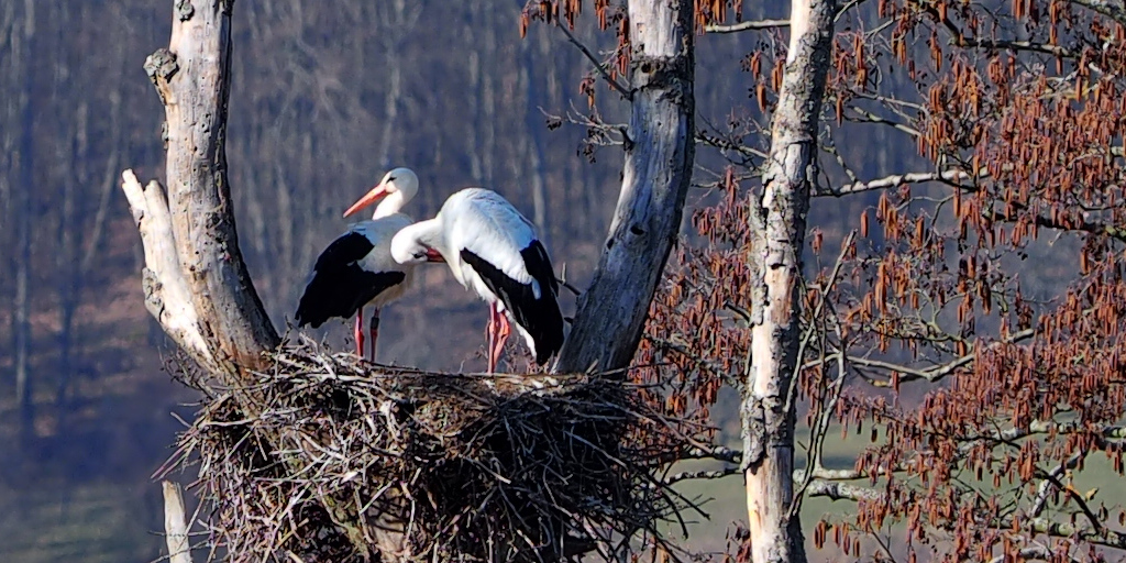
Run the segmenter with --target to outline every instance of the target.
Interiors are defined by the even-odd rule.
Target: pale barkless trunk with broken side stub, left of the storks
[[[232,5],[175,2],[169,47],[145,61],[167,117],[167,208],[159,185],[123,187],[145,242],[150,311],[197,360],[234,374],[279,339],[239,251],[227,184]]]

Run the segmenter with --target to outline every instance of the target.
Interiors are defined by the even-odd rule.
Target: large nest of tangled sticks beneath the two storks
[[[198,463],[231,561],[618,560],[668,549],[658,526],[690,506],[655,476],[685,423],[636,385],[422,373],[311,342],[274,360],[211,394],[173,459]]]

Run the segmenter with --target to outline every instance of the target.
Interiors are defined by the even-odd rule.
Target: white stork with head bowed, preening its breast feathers
[[[563,346],[558,283],[531,223],[495,191],[466,188],[446,199],[438,215],[410,225],[391,241],[404,265],[446,262],[454,277],[489,303],[489,372],[516,323],[536,357],[546,363]]]

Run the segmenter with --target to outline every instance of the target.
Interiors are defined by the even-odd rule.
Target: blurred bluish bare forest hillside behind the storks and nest
[[[194,396],[163,369],[171,350],[144,310],[141,244],[118,182],[127,167],[162,176],[163,114],[142,63],[168,44],[170,8],[0,5],[2,561],[148,562],[160,553],[151,475]],[[408,209],[417,218],[463,186],[499,190],[583,286],[617,198],[620,151],[591,154],[583,127],[548,126],[545,111],[588,111],[579,83],[591,64],[552,26],[531,26],[521,39],[521,8],[519,0],[236,3],[232,191],[243,253],[279,329],[316,254],[345,229],[340,213],[396,166],[421,179]],[[785,17],[786,8],[748,6],[744,17]],[[592,50],[615,42],[590,18],[578,27]],[[700,127],[758,111],[742,57],[784,36],[698,38]],[[597,91],[602,117],[624,122],[625,106]],[[858,128],[838,149],[867,178],[920,162],[915,146],[886,138]],[[720,162],[698,150],[690,206],[714,198],[709,169]],[[811,224],[837,240],[877,197],[819,199]],[[1024,287],[1052,292],[1056,275],[1038,263]],[[445,268],[426,269],[412,297],[385,311],[381,359],[483,367],[485,310]],[[573,298],[565,302],[570,312]],[[349,325],[330,324],[322,332],[342,347]],[[734,439],[735,401],[722,405],[715,423]],[[694,544],[723,549],[742,499],[720,488],[739,490],[738,479],[700,491],[726,500],[709,506],[714,518]]]

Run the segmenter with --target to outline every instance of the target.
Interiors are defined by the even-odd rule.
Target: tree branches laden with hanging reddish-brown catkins
[[[805,450],[793,494],[781,492],[788,515],[816,549],[849,560],[1120,558],[1126,10],[841,10],[808,224],[788,239],[805,235],[804,267],[789,303],[793,385],[776,396],[808,432],[768,444]],[[643,354],[688,374],[686,404],[712,404],[725,384],[753,393],[747,375],[769,351],[761,304],[778,296],[757,293],[754,249],[775,240],[757,216],[778,137],[767,148],[756,133],[777,132],[792,102],[781,45],[759,42],[740,61],[750,107],[697,134],[701,158],[725,164],[697,181],[712,205],[692,213],[697,236],[674,257]],[[854,463],[833,462],[834,434]],[[753,441],[712,454],[744,466],[762,456]],[[850,506],[802,515],[814,497]],[[750,516],[743,555],[797,560],[762,554]]]

